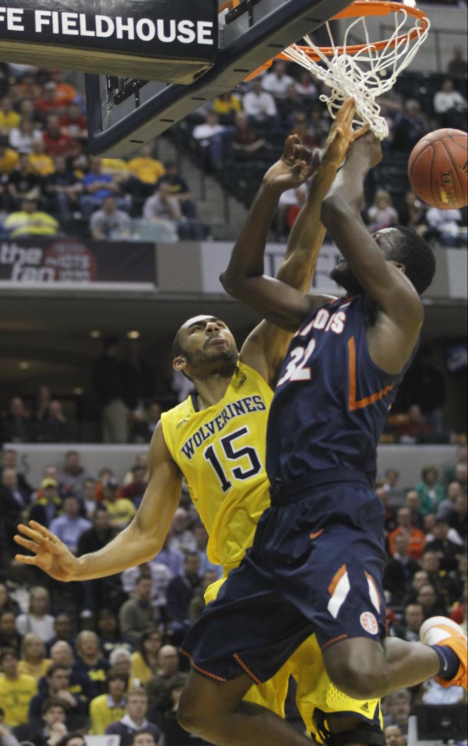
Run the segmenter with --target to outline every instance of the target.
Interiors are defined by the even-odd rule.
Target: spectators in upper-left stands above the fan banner
[[[94,239],[128,240],[134,219],[166,239],[208,236],[187,181],[158,159],[155,142],[128,159],[88,157],[84,100],[62,72],[3,65],[3,73],[3,236],[73,235],[78,225]]]

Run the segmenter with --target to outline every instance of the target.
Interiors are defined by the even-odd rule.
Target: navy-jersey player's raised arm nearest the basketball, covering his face
[[[355,142],[322,203],[321,214],[323,224],[361,287],[381,311],[380,319],[368,332],[372,360],[389,373],[399,373],[416,345],[423,308],[410,280],[398,266],[385,259],[361,219],[364,178],[379,160],[380,143],[373,134]],[[384,240],[383,235],[382,244]]]

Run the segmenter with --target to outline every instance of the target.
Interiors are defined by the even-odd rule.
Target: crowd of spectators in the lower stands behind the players
[[[13,559],[16,524],[31,518],[78,556],[102,548],[134,517],[147,468],[142,451],[116,480],[105,466],[88,473],[70,451],[60,468],[44,465],[31,486],[16,451],[1,452],[1,746],[21,739],[35,746],[81,739],[72,746],[82,746],[84,733],[119,735],[122,746],[196,743],[175,718],[187,676],[178,646],[221,568],[208,560],[208,535],[187,492],[160,553],[121,574],[64,586]],[[385,509],[390,635],[418,639],[432,615],[466,632],[467,447],[440,471],[425,466],[414,481],[400,485],[399,471],[389,468],[376,483]],[[384,698],[387,743],[404,746],[414,704],[464,701],[463,689],[435,680]]]

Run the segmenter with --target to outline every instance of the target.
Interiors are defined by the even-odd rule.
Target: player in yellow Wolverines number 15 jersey
[[[355,137],[350,126],[352,113],[350,102],[332,128],[328,147],[313,174],[308,202],[293,227],[278,272],[278,279],[303,292],[311,286],[324,236],[319,205]],[[307,151],[300,148],[296,137],[289,137],[284,156],[269,169],[266,183],[275,191],[299,186],[312,171],[305,157]],[[253,225],[247,230],[252,245],[263,247],[266,236],[255,235]],[[208,530],[208,557],[223,567],[223,579],[213,583],[205,595],[207,601],[216,598],[228,571],[237,567],[252,545],[258,519],[269,506],[264,470],[266,420],[272,387],[290,338],[289,333],[261,322],[239,354],[231,332],[220,319],[189,319],[175,338],[174,367],[196,383],[197,394],[161,417],[152,439],[149,487],[135,520],[106,548],[78,559],[69,556],[49,531],[31,523],[20,527],[28,539],[16,540],[36,556],[18,559],[40,566],[58,580],[102,577],[151,560],[169,529],[184,476]],[[272,680],[252,686],[246,698],[283,715],[290,674],[299,681],[298,704],[308,730],[317,732],[317,712],[320,719],[321,712],[340,711],[337,724],[331,724],[334,730],[341,730],[346,715],[358,714],[370,721],[378,717],[377,700],[358,702],[334,688],[313,637]]]

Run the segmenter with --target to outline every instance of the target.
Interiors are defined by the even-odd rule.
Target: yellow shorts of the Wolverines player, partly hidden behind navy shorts
[[[208,586],[205,591],[206,604],[214,601],[224,581],[225,577],[222,577],[220,580],[216,580],[216,583]],[[284,718],[284,701],[286,700],[290,676],[297,683],[296,704],[305,727],[309,733],[313,733],[319,743],[322,743],[322,738],[316,729],[314,720],[316,709],[325,712],[325,714],[355,715],[361,720],[370,722],[375,721],[377,716],[381,727],[383,727],[378,699],[355,700],[340,692],[331,683],[315,635],[308,637],[294,651],[290,659],[275,676],[263,684],[254,684],[244,699],[267,707]]]

